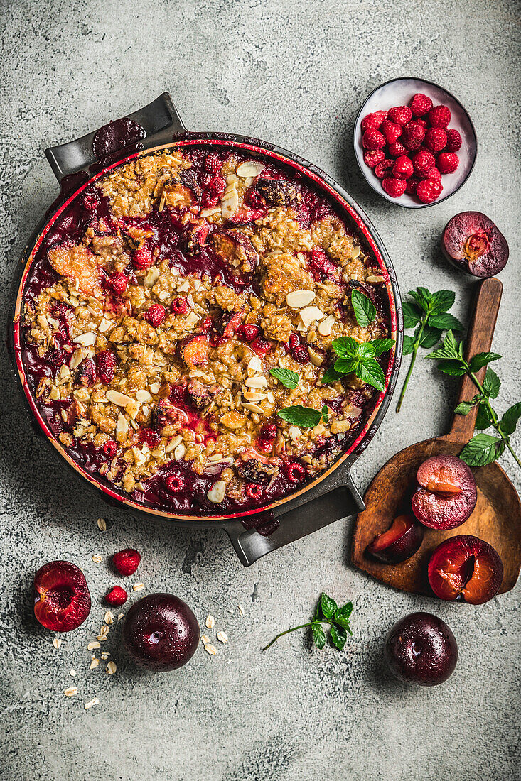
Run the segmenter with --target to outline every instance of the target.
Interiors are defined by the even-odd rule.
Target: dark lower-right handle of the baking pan
[[[271,533],[262,533],[262,526],[258,526],[260,531],[245,529],[238,520],[225,523],[225,530],[241,564],[249,567],[250,564],[257,562],[257,559],[275,551],[278,547],[300,540],[308,534],[323,529],[324,526],[329,526],[330,523],[365,510],[364,502],[349,474],[345,476],[345,481],[347,485],[333,488],[311,501],[304,501],[303,504],[287,512],[284,512],[283,508],[280,515],[275,512],[279,525]],[[267,518],[264,526],[268,532],[269,525],[270,519]]]

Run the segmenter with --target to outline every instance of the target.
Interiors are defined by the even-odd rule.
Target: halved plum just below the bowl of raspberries
[[[505,237],[481,212],[461,212],[450,219],[441,237],[441,249],[449,262],[472,276],[494,276],[508,261]]]

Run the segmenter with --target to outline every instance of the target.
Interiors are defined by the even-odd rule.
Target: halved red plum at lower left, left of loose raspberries
[[[77,629],[91,611],[91,594],[81,569],[70,562],[49,562],[34,576],[34,615],[53,632]]]

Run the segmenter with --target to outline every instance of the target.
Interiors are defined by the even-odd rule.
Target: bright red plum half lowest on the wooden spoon
[[[430,587],[440,599],[483,604],[498,594],[502,580],[498,551],[471,534],[444,540],[429,559]]]

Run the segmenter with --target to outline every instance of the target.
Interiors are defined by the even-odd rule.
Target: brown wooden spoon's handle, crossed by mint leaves
[[[488,352],[494,336],[494,328],[498,319],[499,305],[501,303],[501,293],[503,285],[495,278],[483,280],[480,285],[480,291],[477,294],[472,323],[470,323],[469,333],[466,340],[465,360],[469,361],[473,355],[478,352]],[[486,367],[476,373],[476,377],[483,382]],[[477,393],[477,388],[470,379],[465,376],[459,389],[456,406],[461,401],[470,401]],[[449,438],[462,444],[466,444],[474,433],[476,425],[477,405],[472,407],[468,415],[455,415],[452,419],[451,433]]]

